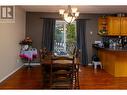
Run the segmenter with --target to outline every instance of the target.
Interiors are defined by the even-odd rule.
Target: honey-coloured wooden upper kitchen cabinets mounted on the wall
[[[102,18],[102,17],[101,17]],[[106,18],[106,33],[101,34],[99,18],[99,34],[107,36],[127,36],[127,17],[107,17]]]

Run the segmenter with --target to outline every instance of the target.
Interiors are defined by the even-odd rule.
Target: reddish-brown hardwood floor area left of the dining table
[[[42,89],[41,67],[21,68],[0,84],[0,89]]]

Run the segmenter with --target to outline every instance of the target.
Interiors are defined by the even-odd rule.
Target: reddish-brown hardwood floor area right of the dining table
[[[127,77],[116,78],[104,70],[81,67],[80,89],[127,89]]]

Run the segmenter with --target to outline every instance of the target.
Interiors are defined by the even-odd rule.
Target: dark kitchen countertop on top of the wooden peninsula
[[[99,47],[98,45],[93,44],[93,47],[96,49],[104,49],[109,51],[127,51],[127,47]]]

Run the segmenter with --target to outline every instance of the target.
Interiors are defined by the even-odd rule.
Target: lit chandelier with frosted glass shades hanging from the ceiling
[[[67,23],[72,23],[79,16],[77,8],[71,8],[70,5],[68,6],[67,10],[60,9],[59,14],[64,18]]]

